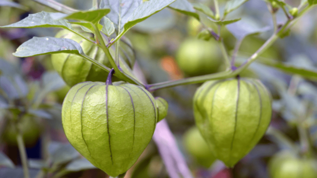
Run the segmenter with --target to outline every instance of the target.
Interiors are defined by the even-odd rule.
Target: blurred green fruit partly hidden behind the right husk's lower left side
[[[184,133],[183,143],[185,149],[196,158],[197,162],[206,168],[216,160],[210,147],[206,143],[197,127],[192,127]]]

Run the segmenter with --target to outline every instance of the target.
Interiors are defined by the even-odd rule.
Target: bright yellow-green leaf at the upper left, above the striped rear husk
[[[68,16],[65,16],[66,19],[73,19],[78,21],[86,21],[97,24],[100,19],[106,16],[110,12],[110,9],[96,9],[96,10],[87,10],[79,11]]]

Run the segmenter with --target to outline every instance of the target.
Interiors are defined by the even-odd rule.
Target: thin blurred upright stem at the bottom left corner
[[[23,142],[22,133],[18,126],[16,127],[16,130],[17,130],[16,141],[18,143],[24,178],[30,178],[29,167],[28,167],[28,156],[25,151],[25,145]]]

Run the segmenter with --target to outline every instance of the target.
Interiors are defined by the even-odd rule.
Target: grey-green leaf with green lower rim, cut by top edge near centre
[[[185,15],[193,16],[199,20],[199,15],[195,12],[193,5],[187,0],[176,0],[168,7]]]

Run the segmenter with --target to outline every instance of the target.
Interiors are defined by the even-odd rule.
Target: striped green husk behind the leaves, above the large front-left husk
[[[87,34],[88,33],[86,33],[86,36]],[[97,60],[99,63],[109,68],[112,68],[103,50],[97,45],[94,45],[91,42],[85,40],[81,36],[76,35],[69,30],[63,29],[59,31],[55,35],[55,37],[68,38],[78,42],[81,45],[83,52],[87,56],[94,60]],[[134,64],[134,54],[133,50],[129,46],[129,43],[121,42],[120,44],[120,65],[123,67],[123,70],[126,71],[126,68],[131,68]],[[114,56],[114,49],[109,48],[109,51],[112,56]],[[108,75],[108,72],[106,72],[105,70],[75,54],[52,54],[52,64],[55,70],[61,75],[66,84],[69,86],[74,86],[75,84],[83,81],[105,82]]]

